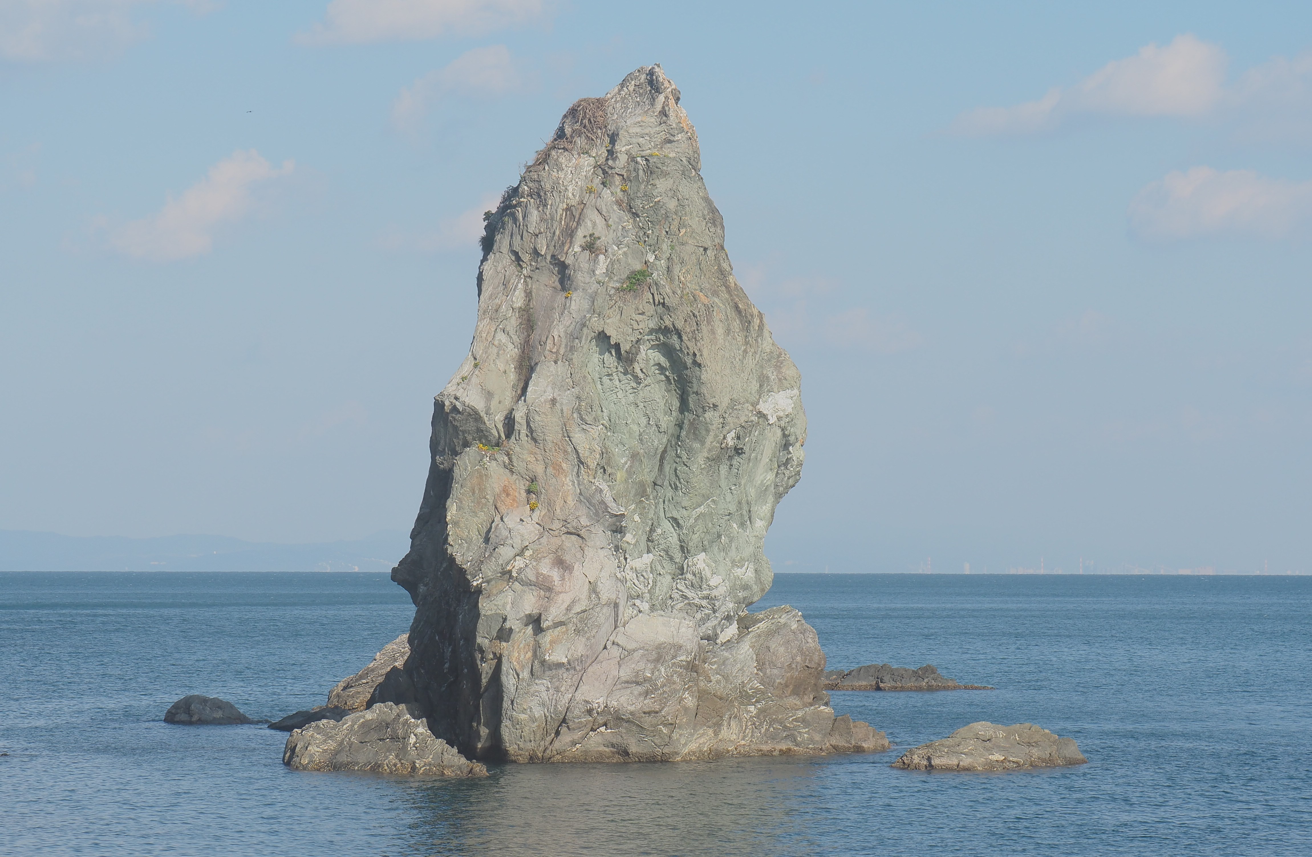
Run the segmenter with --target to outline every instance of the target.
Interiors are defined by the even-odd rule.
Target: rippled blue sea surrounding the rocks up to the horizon
[[[1312,854],[1312,578],[779,575],[833,667],[998,689],[834,693],[871,756],[297,773],[286,735],[412,608],[370,574],[0,574],[0,854]],[[1090,764],[895,771],[972,721]]]

